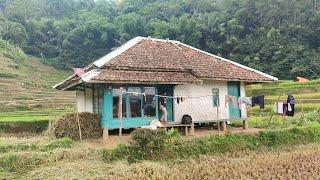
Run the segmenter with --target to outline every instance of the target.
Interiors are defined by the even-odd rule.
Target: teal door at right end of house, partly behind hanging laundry
[[[240,82],[228,82],[228,95],[234,96],[238,100],[240,97]],[[231,119],[240,118],[241,111],[238,107],[234,107],[232,102],[229,102],[229,117]]]

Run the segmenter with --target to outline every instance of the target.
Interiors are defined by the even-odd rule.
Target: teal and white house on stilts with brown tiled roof
[[[135,128],[158,119],[158,95],[167,98],[168,121],[184,114],[194,122],[245,119],[246,107],[233,107],[226,95],[245,96],[248,83],[277,78],[179,41],[136,37],[54,86],[76,91],[79,112],[102,116],[104,129]],[[142,93],[142,94],[141,94]],[[143,95],[144,94],[144,95]],[[119,119],[121,121],[119,121]]]

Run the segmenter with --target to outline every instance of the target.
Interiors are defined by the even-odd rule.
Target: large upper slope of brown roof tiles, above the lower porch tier
[[[240,67],[176,41],[143,39],[108,61],[104,67],[130,69],[191,70],[198,78],[240,81],[273,81],[261,73]]]

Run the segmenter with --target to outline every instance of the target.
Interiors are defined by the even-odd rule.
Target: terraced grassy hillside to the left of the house
[[[52,89],[68,75],[35,58],[16,63],[0,53],[0,121],[49,120],[74,109],[74,93]]]

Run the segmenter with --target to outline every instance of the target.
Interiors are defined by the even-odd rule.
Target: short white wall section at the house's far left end
[[[93,112],[93,94],[92,89],[77,90],[77,109],[78,112]]]

